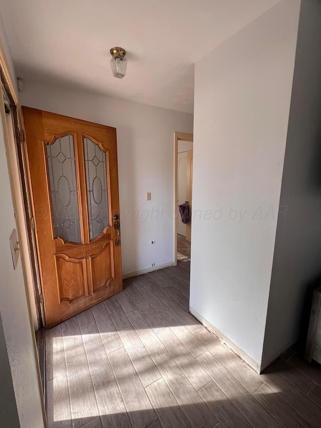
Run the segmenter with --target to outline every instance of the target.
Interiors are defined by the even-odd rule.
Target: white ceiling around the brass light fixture
[[[17,74],[193,112],[194,63],[279,0],[0,0]],[[109,50],[127,51],[112,76]]]

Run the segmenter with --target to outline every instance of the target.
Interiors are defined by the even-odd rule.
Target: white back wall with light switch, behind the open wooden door
[[[21,105],[117,128],[123,274],[173,262],[174,132],[192,133],[193,115],[25,83]]]

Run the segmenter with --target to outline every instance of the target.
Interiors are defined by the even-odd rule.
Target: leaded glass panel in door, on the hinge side
[[[81,242],[74,136],[55,138],[46,149],[54,236]]]

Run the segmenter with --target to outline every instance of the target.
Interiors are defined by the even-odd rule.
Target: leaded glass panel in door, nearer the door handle
[[[84,137],[90,240],[109,225],[106,153]]]

